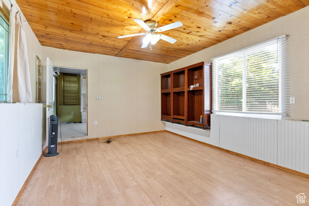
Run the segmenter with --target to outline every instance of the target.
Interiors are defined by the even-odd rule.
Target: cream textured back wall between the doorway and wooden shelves
[[[88,138],[165,130],[160,74],[167,64],[51,47],[43,56],[54,66],[87,69]]]

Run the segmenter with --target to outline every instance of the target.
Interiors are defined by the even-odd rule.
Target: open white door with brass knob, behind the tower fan
[[[55,77],[53,74],[54,66],[46,57],[46,143],[49,138],[49,117],[53,115],[53,104],[55,102]]]

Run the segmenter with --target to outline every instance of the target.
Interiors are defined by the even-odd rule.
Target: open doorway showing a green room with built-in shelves
[[[56,81],[56,115],[58,139],[63,141],[87,139],[87,70],[54,67],[59,72]]]

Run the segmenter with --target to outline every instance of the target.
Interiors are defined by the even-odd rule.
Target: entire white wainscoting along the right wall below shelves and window
[[[309,174],[309,122],[211,114],[211,130],[166,123],[166,130]]]

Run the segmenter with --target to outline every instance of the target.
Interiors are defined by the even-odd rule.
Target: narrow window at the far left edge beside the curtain
[[[7,101],[9,25],[0,16],[0,102]]]

